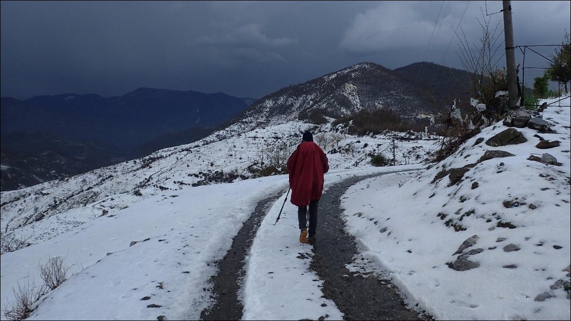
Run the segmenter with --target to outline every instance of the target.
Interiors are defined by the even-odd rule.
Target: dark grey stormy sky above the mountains
[[[512,1],[516,46],[560,44],[570,4]],[[260,98],[364,61],[463,69],[454,30],[480,43],[481,11],[501,9],[501,1],[2,1],[0,95],[150,87]],[[488,18],[503,29],[501,13]],[[526,55],[525,67],[545,67],[537,58]]]

